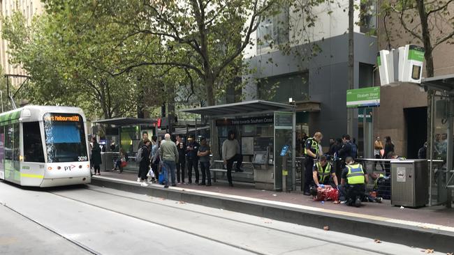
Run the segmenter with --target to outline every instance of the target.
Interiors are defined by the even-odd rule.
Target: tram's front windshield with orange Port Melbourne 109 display
[[[87,161],[84,123],[79,114],[45,114],[47,162]]]

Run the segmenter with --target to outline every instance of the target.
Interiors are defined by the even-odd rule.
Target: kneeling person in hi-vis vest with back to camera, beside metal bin
[[[339,186],[339,199],[348,206],[359,207],[369,178],[363,166],[353,161],[353,157],[347,157],[345,162],[346,167],[342,170],[341,185]]]

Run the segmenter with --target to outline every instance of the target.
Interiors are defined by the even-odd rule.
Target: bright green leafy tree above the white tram
[[[133,114],[137,102],[134,77],[112,77],[94,68],[94,64],[103,66],[109,61],[95,55],[101,51],[94,48],[110,45],[96,45],[94,41],[68,43],[66,38],[80,35],[62,29],[70,25],[63,15],[36,17],[31,26],[27,26],[22,13],[3,20],[2,36],[10,45],[10,62],[21,64],[31,75],[33,84],[24,95],[37,104],[80,106],[89,113],[101,109],[104,118]]]

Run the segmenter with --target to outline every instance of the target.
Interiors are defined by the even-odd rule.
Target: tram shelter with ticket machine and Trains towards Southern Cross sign
[[[250,182],[263,190],[296,190],[295,107],[253,100],[182,110],[210,119],[212,172],[223,168],[222,144],[230,130],[240,143],[244,168],[251,168]],[[247,172],[247,171],[245,171]],[[233,175],[233,181],[237,181]]]

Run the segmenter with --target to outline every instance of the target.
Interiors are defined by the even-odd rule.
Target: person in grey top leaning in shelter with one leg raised
[[[242,164],[242,155],[240,154],[240,144],[237,139],[235,139],[235,132],[230,130],[228,132],[228,139],[222,144],[222,159],[224,164],[227,165],[227,178],[228,185],[233,187],[232,183],[232,167],[233,162],[237,162],[236,170],[237,172],[242,172],[240,169]]]

